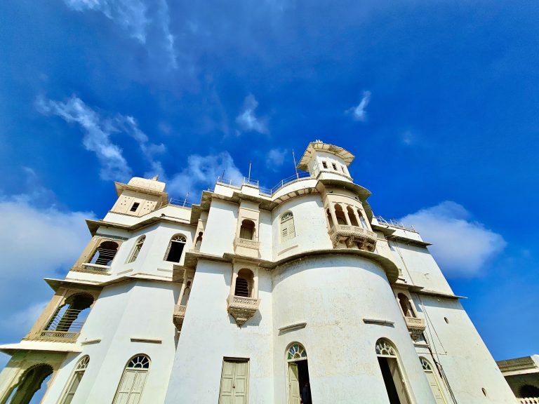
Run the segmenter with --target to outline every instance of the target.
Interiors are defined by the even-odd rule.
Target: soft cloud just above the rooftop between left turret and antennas
[[[213,186],[223,173],[225,179],[233,183],[244,179],[228,152],[208,156],[193,154],[187,158],[187,167],[167,181],[167,191],[176,198],[183,198],[189,192],[189,199],[195,200],[201,189]]]

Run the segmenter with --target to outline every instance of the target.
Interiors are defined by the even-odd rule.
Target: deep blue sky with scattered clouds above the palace
[[[0,342],[113,180],[196,202],[250,160],[272,187],[321,139],[434,243],[495,359],[538,353],[538,20],[537,1],[1,1]]]

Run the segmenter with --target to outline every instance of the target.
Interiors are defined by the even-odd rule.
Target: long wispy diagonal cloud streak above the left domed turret
[[[154,156],[164,152],[165,147],[163,144],[149,143],[133,116],[117,114],[111,118],[103,117],[75,95],[65,102],[38,97],[36,109],[41,114],[57,115],[66,122],[81,126],[84,130],[84,148],[98,157],[102,180],[128,180],[131,177],[132,170],[121,147],[111,140],[115,133],[126,133],[133,137],[152,166],[152,171],[161,173],[161,165],[154,160]]]

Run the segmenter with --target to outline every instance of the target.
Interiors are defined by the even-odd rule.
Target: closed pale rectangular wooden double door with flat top
[[[248,362],[223,361],[219,404],[247,404]]]

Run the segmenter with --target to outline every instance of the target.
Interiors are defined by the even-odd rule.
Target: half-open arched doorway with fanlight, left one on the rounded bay
[[[293,343],[286,351],[288,362],[288,404],[312,404],[307,366],[307,351],[302,344]]]

